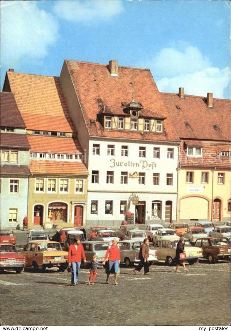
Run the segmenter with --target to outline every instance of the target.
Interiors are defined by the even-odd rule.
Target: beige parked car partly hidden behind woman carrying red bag
[[[154,247],[157,250],[158,261],[165,261],[168,265],[174,265],[178,242],[178,239],[170,237],[158,239]],[[202,258],[202,250],[191,246],[189,239],[185,239],[185,253],[189,264],[194,264],[197,259]]]

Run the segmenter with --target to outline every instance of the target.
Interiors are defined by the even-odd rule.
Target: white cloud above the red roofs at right
[[[179,48],[164,48],[146,64],[154,78],[162,77],[156,79],[159,90],[176,93],[179,87],[185,87],[186,94],[206,96],[207,92],[212,92],[214,97],[223,98],[230,82],[229,68],[212,67],[209,58],[197,47]]]

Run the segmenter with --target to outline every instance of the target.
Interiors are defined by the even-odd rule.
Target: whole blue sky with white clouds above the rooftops
[[[9,68],[59,76],[63,61],[149,68],[161,92],[230,99],[230,1],[1,1]]]

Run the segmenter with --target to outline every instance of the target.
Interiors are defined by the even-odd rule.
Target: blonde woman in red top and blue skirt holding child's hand
[[[106,279],[106,284],[109,284],[109,276],[110,273],[112,272],[112,268],[115,268],[115,285],[118,285],[117,283],[117,273],[118,273],[118,268],[119,268],[119,263],[120,263],[120,252],[119,252],[119,248],[117,245],[117,240],[113,239],[112,241],[112,246],[109,246],[109,248],[107,249],[106,255],[104,257],[104,261],[103,261],[103,265],[106,263],[106,261],[108,260],[109,262],[109,269],[107,272],[107,279]]]

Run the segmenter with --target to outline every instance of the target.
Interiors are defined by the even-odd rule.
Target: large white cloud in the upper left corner
[[[42,58],[57,39],[54,17],[40,10],[37,1],[4,1],[1,5],[2,63],[16,66],[21,61]]]

